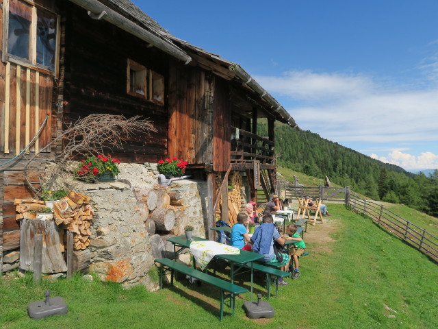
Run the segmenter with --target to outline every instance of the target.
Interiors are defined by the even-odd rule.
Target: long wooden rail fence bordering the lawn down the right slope
[[[370,217],[375,223],[388,232],[406,241],[415,249],[420,250],[435,262],[438,262],[438,237],[427,232],[425,228],[420,228],[406,219],[396,215],[391,210],[381,204],[365,200],[357,193],[350,190],[350,187],[334,188],[326,186],[295,186],[291,182],[279,181],[279,193],[284,191],[285,199],[293,199],[309,195],[313,199],[327,201],[344,201],[346,206],[350,206],[355,212]]]

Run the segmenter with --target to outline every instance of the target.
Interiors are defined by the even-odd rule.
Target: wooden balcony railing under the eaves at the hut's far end
[[[273,164],[274,142],[246,130],[231,127],[231,162],[253,162]]]

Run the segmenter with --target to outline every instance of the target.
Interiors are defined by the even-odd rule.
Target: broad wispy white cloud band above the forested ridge
[[[438,88],[399,90],[362,75],[292,71],[257,77],[304,130],[338,143],[438,141]],[[305,105],[287,106],[290,101]]]

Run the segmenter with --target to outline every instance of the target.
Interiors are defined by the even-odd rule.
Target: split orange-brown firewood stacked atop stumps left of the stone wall
[[[73,249],[86,249],[90,245],[90,226],[94,210],[90,206],[91,197],[71,191],[63,199],[53,203],[53,219],[60,228],[73,235]],[[15,199],[16,220],[36,219],[36,212],[46,208],[44,201],[35,199]]]

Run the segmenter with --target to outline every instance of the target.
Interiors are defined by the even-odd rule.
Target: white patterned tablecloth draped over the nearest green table
[[[240,249],[218,243],[216,241],[193,241],[190,243],[190,250],[196,263],[198,263],[201,270],[205,269],[210,260],[216,255],[238,255]]]

